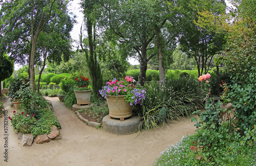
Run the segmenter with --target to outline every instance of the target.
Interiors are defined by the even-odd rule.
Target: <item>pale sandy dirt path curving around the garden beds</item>
[[[61,140],[23,147],[8,121],[8,162],[4,161],[4,118],[0,118],[0,165],[152,165],[160,152],[195,132],[190,118],[181,118],[163,129],[131,135],[114,135],[89,127],[57,97],[52,101],[54,114],[62,127]],[[8,116],[13,107],[5,102]]]

